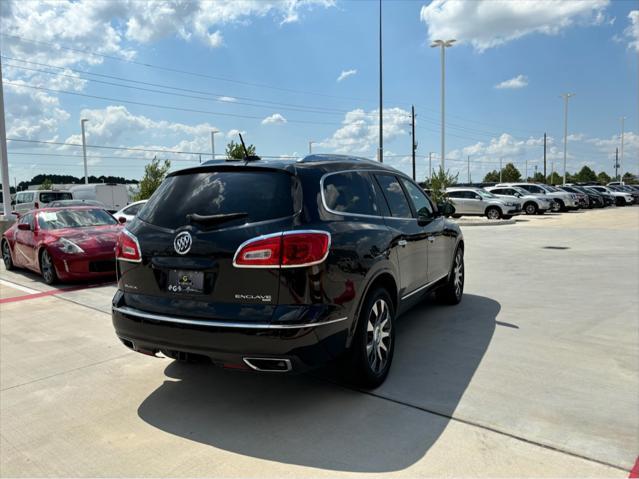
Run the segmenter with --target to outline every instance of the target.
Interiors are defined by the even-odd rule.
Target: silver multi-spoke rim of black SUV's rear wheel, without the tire
[[[390,308],[385,300],[378,299],[370,310],[366,325],[366,357],[375,374],[380,374],[388,363],[391,329]]]

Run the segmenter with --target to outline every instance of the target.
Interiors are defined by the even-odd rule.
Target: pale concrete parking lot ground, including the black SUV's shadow
[[[464,300],[403,316],[371,393],[129,352],[113,284],[2,269],[0,474],[628,477],[639,207],[463,231]]]

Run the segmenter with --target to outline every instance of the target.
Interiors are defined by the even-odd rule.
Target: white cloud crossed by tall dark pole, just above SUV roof
[[[384,108],[384,142],[408,133],[410,113],[401,108]],[[360,108],[344,116],[342,127],[333,136],[319,143],[336,153],[370,153],[379,139],[379,110]]]

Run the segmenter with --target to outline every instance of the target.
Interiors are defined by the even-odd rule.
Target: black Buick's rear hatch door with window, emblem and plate
[[[298,180],[285,170],[220,166],[168,177],[128,226],[142,262],[120,262],[126,303],[178,316],[269,320],[279,269],[238,268],[233,257],[249,239],[290,230],[300,206]]]

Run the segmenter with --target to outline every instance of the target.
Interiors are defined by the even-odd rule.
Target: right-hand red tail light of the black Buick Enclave
[[[321,263],[328,256],[331,235],[326,231],[285,231],[250,239],[235,252],[237,268],[299,268]]]

